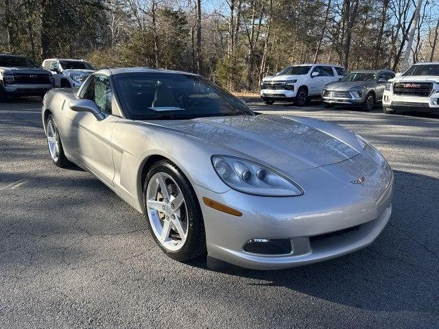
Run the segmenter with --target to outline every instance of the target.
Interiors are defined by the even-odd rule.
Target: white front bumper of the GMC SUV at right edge
[[[407,97],[385,90],[383,107],[398,111],[439,112],[439,91],[430,97]]]

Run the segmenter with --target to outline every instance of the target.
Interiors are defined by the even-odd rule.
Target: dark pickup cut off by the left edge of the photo
[[[0,53],[0,100],[8,96],[41,96],[54,87],[49,71],[25,56]]]

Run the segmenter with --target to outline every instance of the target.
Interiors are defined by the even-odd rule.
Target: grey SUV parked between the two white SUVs
[[[388,70],[353,71],[342,77],[340,81],[329,82],[322,90],[322,101],[325,108],[334,105],[361,106],[365,111],[372,110],[377,102],[381,102],[385,84],[395,77]]]

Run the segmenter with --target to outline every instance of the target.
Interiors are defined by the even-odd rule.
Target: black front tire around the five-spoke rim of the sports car
[[[147,172],[145,183],[143,184],[143,202],[145,204],[145,208],[147,209],[147,186],[151,181],[151,178],[156,173],[165,173],[176,182],[178,188],[182,192],[183,197],[185,198],[185,208],[187,210],[187,221],[188,221],[188,230],[187,230],[187,238],[182,245],[182,247],[176,251],[171,251],[165,248],[160,241],[158,241],[156,234],[152,228],[150,223],[150,218],[148,217],[147,211],[145,212],[145,218],[147,221],[147,225],[150,228],[150,232],[156,241],[156,244],[162,249],[162,251],[167,254],[167,256],[174,258],[180,262],[186,262],[193,258],[197,258],[206,254],[206,233],[204,231],[204,221],[200,208],[200,204],[198,204],[197,196],[195,195],[195,191],[191,186],[191,183],[185,175],[178,169],[175,164],[170,162],[169,160],[160,160],[152,165],[150,170]]]

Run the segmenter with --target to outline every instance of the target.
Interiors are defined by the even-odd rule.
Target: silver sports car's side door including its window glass
[[[112,90],[107,75],[92,75],[80,91],[80,98],[94,101],[104,114],[98,120],[90,112],[75,112],[67,106],[66,130],[69,151],[88,170],[112,186],[115,167],[111,136],[119,117],[112,115]]]

